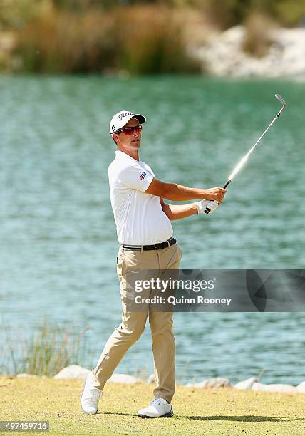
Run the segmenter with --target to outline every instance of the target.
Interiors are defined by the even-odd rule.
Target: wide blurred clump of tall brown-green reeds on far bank
[[[49,9],[19,31],[21,71],[35,73],[182,73],[187,56],[181,20],[166,7]]]

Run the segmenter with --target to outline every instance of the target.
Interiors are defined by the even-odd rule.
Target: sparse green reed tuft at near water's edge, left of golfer
[[[5,326],[5,349],[6,353],[9,351],[10,366],[15,374],[53,376],[68,365],[81,365],[88,358],[85,341],[87,330],[76,333],[53,325],[45,318],[29,338],[21,338],[16,343]]]

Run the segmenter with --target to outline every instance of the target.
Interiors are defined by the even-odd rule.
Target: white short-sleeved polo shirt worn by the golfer
[[[172,236],[160,197],[145,194],[155,177],[145,163],[121,151],[108,167],[110,201],[120,244],[151,245]]]

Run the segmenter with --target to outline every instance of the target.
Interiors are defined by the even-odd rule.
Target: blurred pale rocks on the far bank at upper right
[[[244,26],[211,34],[205,45],[192,48],[191,54],[202,64],[202,71],[212,76],[305,78],[305,28],[272,29],[268,36],[272,43],[262,58],[243,51]]]

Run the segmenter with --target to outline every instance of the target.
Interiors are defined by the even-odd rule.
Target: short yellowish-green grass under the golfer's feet
[[[151,400],[153,385],[108,383],[96,415],[80,410],[82,385],[82,380],[0,377],[1,420],[48,420],[51,435],[304,434],[302,394],[177,386],[172,419],[142,420],[137,412]]]

